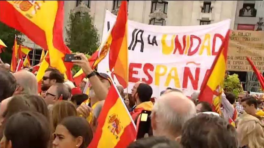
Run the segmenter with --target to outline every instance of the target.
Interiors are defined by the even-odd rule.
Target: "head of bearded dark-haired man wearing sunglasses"
[[[47,68],[42,78],[41,86],[50,87],[56,83],[63,83],[64,75],[55,68]]]

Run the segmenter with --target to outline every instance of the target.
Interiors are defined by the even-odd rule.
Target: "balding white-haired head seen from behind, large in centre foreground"
[[[175,140],[182,133],[184,123],[196,115],[194,103],[180,92],[163,94],[151,114],[154,136]]]

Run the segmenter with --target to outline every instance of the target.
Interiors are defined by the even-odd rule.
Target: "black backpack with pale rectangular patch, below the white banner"
[[[144,135],[147,133],[149,136],[153,135],[151,127],[151,111],[143,110],[138,118],[140,122],[138,125],[137,139],[144,138]]]

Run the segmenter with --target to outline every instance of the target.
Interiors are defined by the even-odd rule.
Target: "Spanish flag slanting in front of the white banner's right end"
[[[226,58],[228,48],[229,32],[223,40],[223,43],[218,51],[217,56],[214,59],[213,65],[207,77],[205,77],[205,83],[201,86],[199,95],[199,101],[206,101],[212,104],[212,108],[218,114],[221,114],[221,94],[223,92],[223,82],[226,72]]]

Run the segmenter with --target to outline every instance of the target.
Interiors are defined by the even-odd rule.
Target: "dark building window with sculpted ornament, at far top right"
[[[257,10],[254,3],[244,3],[243,7],[239,10],[239,16],[241,17],[256,17]]]

